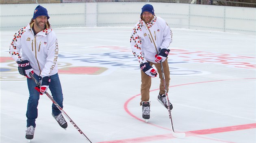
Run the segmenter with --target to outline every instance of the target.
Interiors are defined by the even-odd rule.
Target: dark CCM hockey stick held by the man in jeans
[[[33,74],[30,72],[29,73],[30,77],[36,82],[37,86],[40,86],[39,82],[35,79],[35,77],[33,76]],[[73,122],[73,120],[66,114],[66,112],[61,108],[61,106],[52,98],[52,96],[45,92],[45,94],[52,100],[52,103],[54,103],[54,105],[56,105],[56,107],[58,107],[58,109],[61,111],[62,114],[64,114],[64,116],[66,116],[66,118],[69,120],[69,122],[71,122],[71,124],[78,130],[78,132],[84,136],[87,141],[89,141],[91,143],[91,141],[88,139],[88,137],[82,132],[82,130],[80,130],[80,128],[78,128],[78,126]]]

